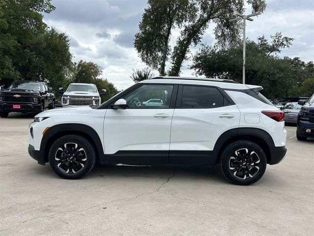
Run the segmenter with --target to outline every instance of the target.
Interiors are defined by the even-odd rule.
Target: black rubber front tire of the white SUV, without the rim
[[[81,146],[85,153],[86,153],[86,164],[83,167],[82,170],[80,170],[78,173],[75,174],[67,174],[63,171],[61,171],[58,167],[57,164],[55,162],[55,153],[57,151],[58,148],[60,148],[61,146],[63,146],[65,143],[76,143],[79,146]],[[87,175],[95,166],[95,162],[96,162],[96,153],[94,150],[94,147],[91,145],[91,143],[78,135],[67,135],[67,136],[63,136],[61,138],[59,138],[58,140],[56,140],[50,150],[49,150],[49,164],[52,168],[52,170],[60,177],[63,178],[67,178],[67,179],[77,179],[77,178],[81,178],[85,175]]]

